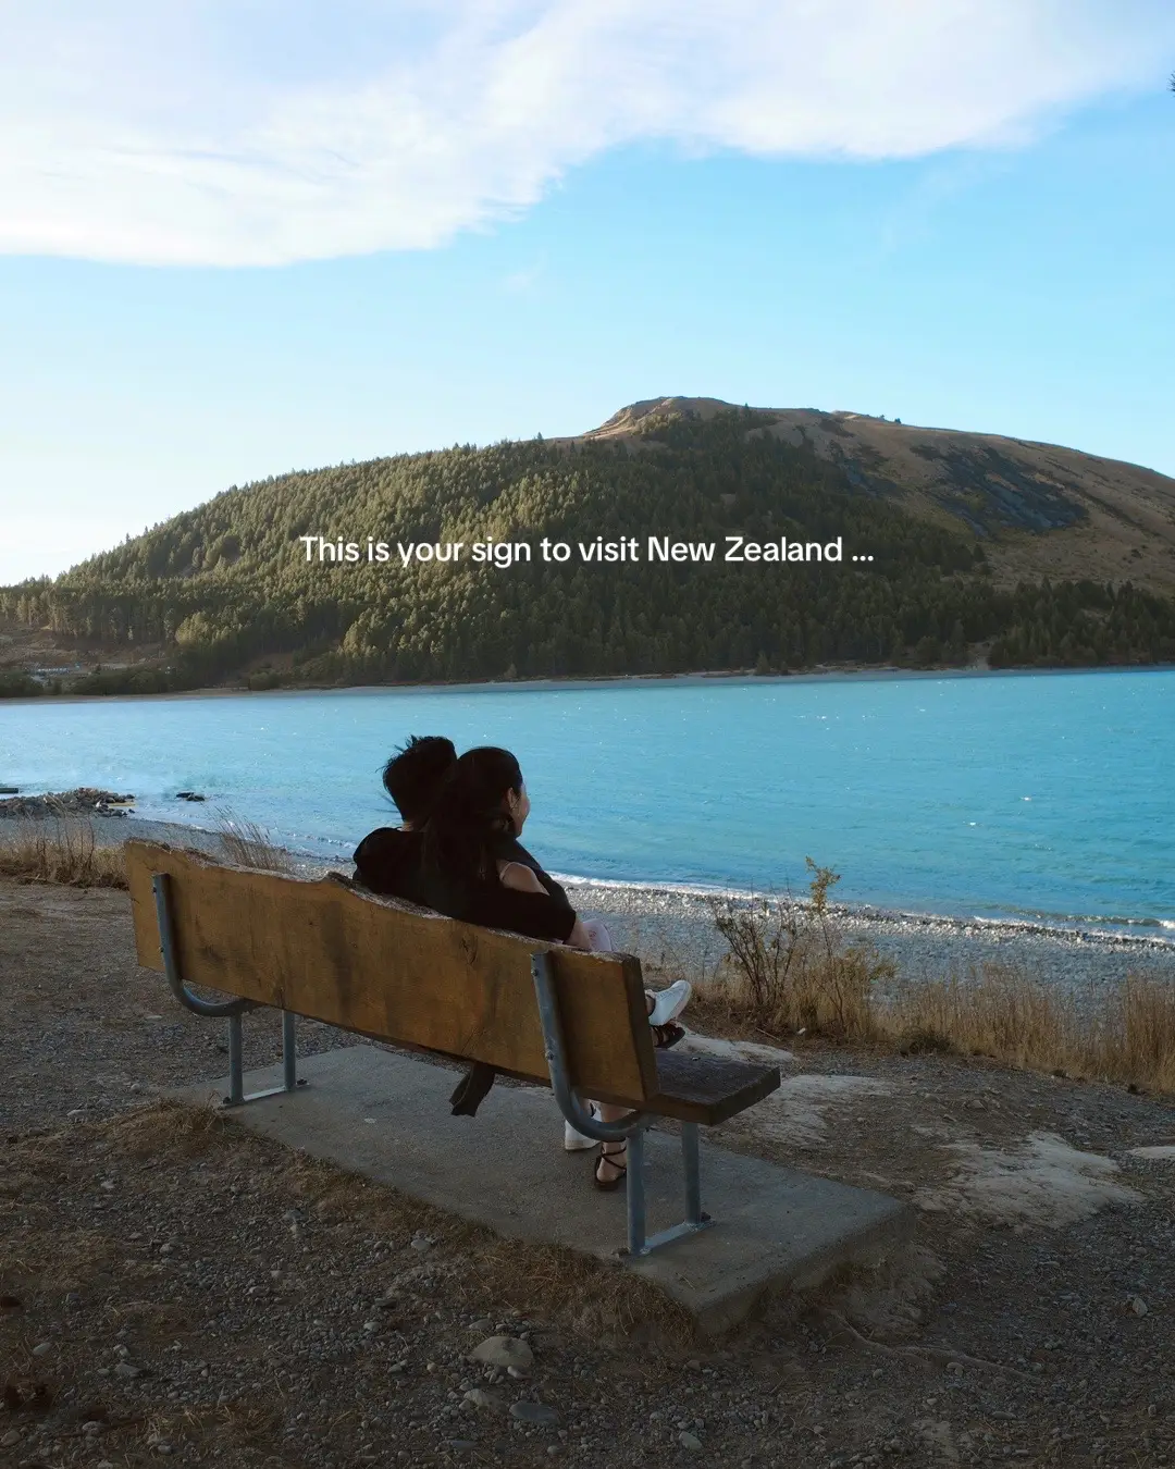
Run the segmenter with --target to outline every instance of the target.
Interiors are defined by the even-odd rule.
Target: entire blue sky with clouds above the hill
[[[0,585],[667,394],[1175,476],[1172,71],[1171,0],[0,0]]]

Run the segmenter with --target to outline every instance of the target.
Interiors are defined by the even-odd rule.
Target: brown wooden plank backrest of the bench
[[[583,953],[317,881],[126,843],[138,962],[162,970],[151,877],[170,877],[191,986],[549,1081],[530,956],[551,950],[571,1083],[639,1105],[658,1091],[640,962]]]

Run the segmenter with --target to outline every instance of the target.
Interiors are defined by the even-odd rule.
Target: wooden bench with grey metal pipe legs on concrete
[[[126,843],[138,961],[167,974],[197,1015],[229,1022],[226,1106],[294,1091],[295,1017],[551,1087],[563,1115],[629,1143],[629,1253],[705,1228],[698,1127],[723,1122],[780,1084],[778,1068],[657,1050],[640,961],[585,953],[375,898],[338,874],[307,881]],[[209,1000],[191,986],[231,999]],[[245,1096],[241,1015],[282,1011],[283,1086]],[[598,1122],[582,1099],[632,1108]],[[645,1128],[682,1125],[684,1221],[645,1230]]]

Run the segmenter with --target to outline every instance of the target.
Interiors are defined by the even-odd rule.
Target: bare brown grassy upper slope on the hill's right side
[[[718,398],[648,398],[583,439],[629,439],[657,419],[711,419]],[[986,542],[1002,582],[1090,577],[1175,589],[1175,479],[997,433],[927,429],[864,413],[755,408],[762,427],[842,464],[864,489]],[[753,430],[751,430],[753,432]]]

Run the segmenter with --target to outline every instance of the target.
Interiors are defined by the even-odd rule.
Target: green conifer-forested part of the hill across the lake
[[[840,563],[724,563],[727,536],[843,542]],[[392,546],[307,563],[300,536]],[[636,564],[539,558],[540,538],[634,538]],[[651,564],[649,536],[714,542]],[[397,542],[529,542],[510,567],[404,567]],[[872,561],[853,563],[853,555]],[[375,460],[231,489],[56,580],[0,591],[10,624],[160,645],[106,692],[250,677],[382,682],[799,670],[814,664],[1175,661],[1175,602],[1129,583],[1000,585],[981,535],[911,514],[762,414],[654,416],[624,441]]]

